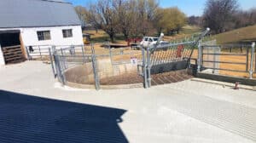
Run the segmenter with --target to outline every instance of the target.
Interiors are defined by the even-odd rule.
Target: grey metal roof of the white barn
[[[0,0],[0,28],[81,25],[64,0]]]

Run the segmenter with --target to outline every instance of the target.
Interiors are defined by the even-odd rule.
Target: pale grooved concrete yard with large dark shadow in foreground
[[[50,66],[41,61],[0,68],[0,78],[5,81],[0,83],[0,114],[3,115],[0,130],[5,134],[20,131],[18,136],[2,136],[0,140],[32,139],[32,129],[44,131],[44,140],[59,140],[58,135],[65,136],[63,133],[68,131],[69,137],[62,138],[67,142],[77,140],[77,134],[83,134],[79,140],[89,142],[101,139],[103,142],[253,143],[256,140],[253,90],[234,90],[222,84],[193,80],[147,90],[73,89],[56,82]],[[22,122],[9,118],[22,112],[29,116],[22,117]],[[32,117],[45,119],[38,122],[31,120]],[[26,125],[28,122],[29,128],[8,128],[9,123]]]

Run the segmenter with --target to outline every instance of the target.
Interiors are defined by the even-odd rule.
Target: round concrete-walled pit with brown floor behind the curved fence
[[[95,77],[92,63],[74,66],[65,72],[68,86],[82,89],[93,89]],[[137,65],[113,65],[111,60],[97,62],[97,76],[101,89],[126,89],[143,87],[143,77],[137,74]]]

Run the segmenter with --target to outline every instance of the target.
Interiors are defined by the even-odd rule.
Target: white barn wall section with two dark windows
[[[73,37],[63,37],[63,29],[72,29]],[[38,41],[37,31],[50,31],[50,40]],[[21,37],[25,46],[31,45],[81,45],[83,36],[81,26],[55,26],[20,28]]]

